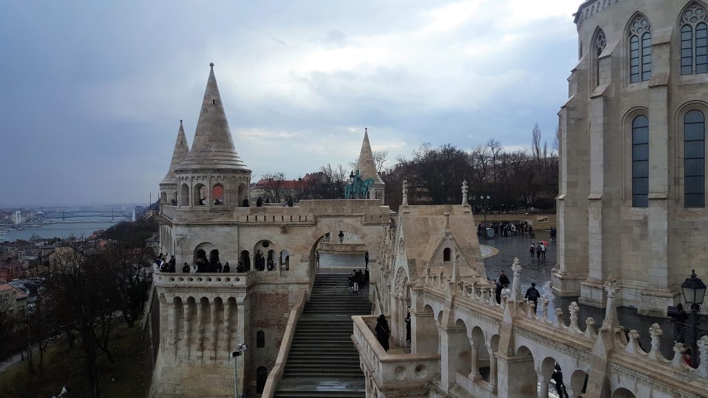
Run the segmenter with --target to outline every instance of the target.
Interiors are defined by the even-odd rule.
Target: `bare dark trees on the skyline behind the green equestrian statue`
[[[469,150],[444,144],[422,144],[410,157],[389,162],[388,152],[374,151],[377,171],[386,183],[385,204],[397,210],[401,205],[403,181],[408,184],[409,204],[459,204],[462,181],[469,185],[469,204],[477,211],[527,211],[554,208],[558,193],[557,130],[551,147],[542,141],[536,124],[531,132],[530,149],[506,149],[496,139]],[[326,164],[289,188],[282,172],[263,174],[263,200],[279,203],[292,196],[302,199],[338,199],[358,161]],[[292,185],[292,184],[291,184]],[[481,200],[480,197],[484,197]],[[489,197],[489,200],[487,200]]]

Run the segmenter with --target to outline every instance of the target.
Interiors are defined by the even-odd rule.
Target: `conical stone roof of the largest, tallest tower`
[[[197,130],[194,133],[192,149],[178,170],[236,169],[247,170],[241,157],[236,153],[231,137],[229,121],[224,112],[224,104],[214,76],[214,63],[204,91],[202,110],[199,113]]]

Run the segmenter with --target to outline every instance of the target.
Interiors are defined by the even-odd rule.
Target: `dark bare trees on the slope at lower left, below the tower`
[[[142,237],[155,225],[118,224],[109,234],[120,237],[101,246],[77,239],[43,258],[30,281],[38,292],[23,314],[0,308],[0,360],[22,353],[30,375],[42,380],[49,346],[74,360],[67,383],[81,396],[99,397],[98,383],[114,363],[116,328],[134,327],[142,316],[152,283],[155,256]],[[131,232],[132,231],[132,232]],[[18,397],[33,396],[36,386],[18,384]]]

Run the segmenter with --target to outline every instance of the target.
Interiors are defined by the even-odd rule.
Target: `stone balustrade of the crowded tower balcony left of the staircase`
[[[156,288],[246,288],[255,282],[256,271],[245,273],[162,273],[152,274]]]

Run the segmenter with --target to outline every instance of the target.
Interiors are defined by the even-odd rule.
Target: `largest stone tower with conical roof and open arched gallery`
[[[180,210],[228,210],[249,197],[251,170],[234,148],[210,64],[192,149],[175,169]]]

